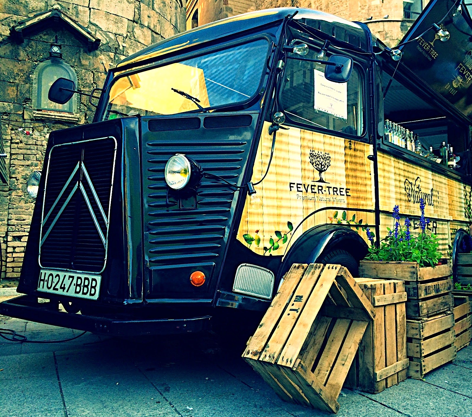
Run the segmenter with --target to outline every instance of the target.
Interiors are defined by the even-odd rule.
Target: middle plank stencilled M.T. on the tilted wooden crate
[[[300,283],[293,292],[291,300],[288,302],[285,311],[282,313],[281,318],[278,322],[277,327],[275,328],[273,334],[270,336],[270,339],[267,342],[266,347],[261,353],[260,359],[265,362],[275,363],[278,360],[279,354],[284,348],[289,335],[294,329],[295,323],[298,317],[301,316],[303,312],[303,307],[305,303],[311,299],[310,294],[315,286],[318,278],[320,277],[321,269],[323,268],[322,264],[310,264],[305,270],[305,273],[300,280]],[[326,269],[326,268],[325,268]],[[316,286],[318,287],[318,286]],[[309,298],[310,297],[310,298]],[[326,298],[326,294],[325,297]],[[323,298],[323,300],[324,300]],[[321,301],[322,302],[322,301]],[[312,322],[310,327],[313,324],[314,319],[317,314],[312,315]],[[306,335],[305,335],[306,338]],[[302,348],[302,344],[305,339],[300,339],[299,349]],[[295,358],[296,359],[296,358]],[[295,362],[286,362],[281,365],[290,366]]]

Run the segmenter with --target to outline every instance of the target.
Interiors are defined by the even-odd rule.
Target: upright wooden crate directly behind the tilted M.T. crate
[[[375,318],[362,337],[349,382],[353,386],[354,379],[362,391],[376,394],[406,379],[405,284],[401,280],[354,280],[371,301]]]

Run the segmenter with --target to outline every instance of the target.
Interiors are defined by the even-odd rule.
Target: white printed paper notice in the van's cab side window
[[[325,78],[324,72],[315,71],[315,110],[347,119],[347,83],[334,83]]]

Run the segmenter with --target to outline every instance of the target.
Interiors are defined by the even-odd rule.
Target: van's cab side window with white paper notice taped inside
[[[304,58],[318,59],[318,52],[319,49],[310,46]],[[354,65],[347,83],[333,83],[324,77],[324,69],[324,65],[315,62],[287,58],[280,108],[295,124],[361,136],[364,128],[361,70]]]

